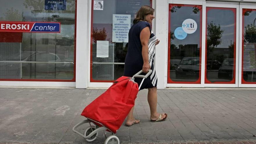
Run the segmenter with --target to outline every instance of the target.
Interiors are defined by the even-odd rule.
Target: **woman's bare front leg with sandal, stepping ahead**
[[[157,120],[160,116],[159,113],[157,113],[157,88],[148,88],[147,93],[147,102],[150,107],[150,120]],[[166,115],[162,115],[161,120],[164,119]]]

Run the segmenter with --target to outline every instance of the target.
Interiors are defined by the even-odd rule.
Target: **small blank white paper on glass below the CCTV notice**
[[[109,57],[109,41],[108,40],[97,40],[97,58],[108,58]]]

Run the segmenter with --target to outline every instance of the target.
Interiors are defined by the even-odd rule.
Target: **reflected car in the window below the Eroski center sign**
[[[17,55],[5,61],[63,62],[57,54],[45,51],[24,51],[22,52],[22,58]],[[21,66],[22,70],[20,70]],[[20,78],[22,76],[26,79],[33,76],[35,78],[54,79],[60,72],[74,72],[72,63],[1,63],[0,70],[1,67],[4,67],[2,71],[5,71],[5,74],[1,77],[8,78]]]

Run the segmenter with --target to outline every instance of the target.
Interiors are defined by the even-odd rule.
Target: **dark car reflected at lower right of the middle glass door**
[[[218,79],[233,79],[234,73],[234,58],[226,58],[221,64],[218,71]]]

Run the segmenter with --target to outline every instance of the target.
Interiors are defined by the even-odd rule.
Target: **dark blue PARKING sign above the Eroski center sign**
[[[45,10],[66,10],[66,0],[45,0]]]

